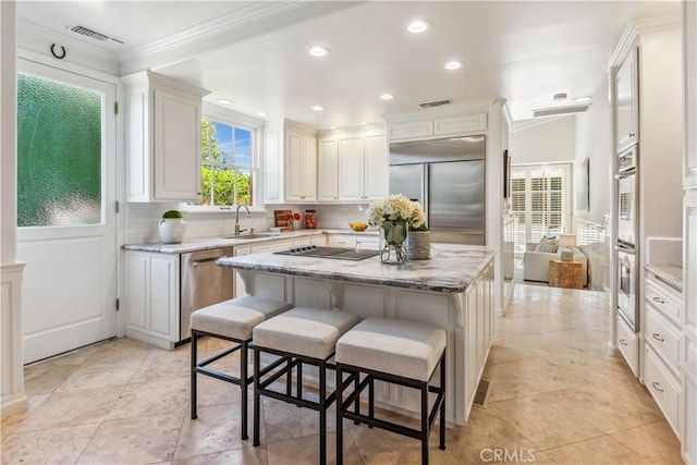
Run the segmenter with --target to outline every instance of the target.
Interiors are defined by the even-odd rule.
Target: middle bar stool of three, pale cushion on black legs
[[[296,307],[269,318],[254,328],[254,370],[260,374],[254,382],[254,445],[259,445],[260,396],[278,399],[301,407],[319,411],[319,463],[327,463],[327,408],[337,392],[327,395],[327,369],[334,355],[337,340],[354,327],[360,318],[337,310]],[[260,368],[262,353],[280,356],[284,365],[274,372]],[[278,360],[277,360],[278,362]],[[319,401],[303,399],[303,364],[319,368]],[[293,368],[296,368],[296,394],[291,392]],[[268,377],[266,377],[269,375]],[[269,386],[285,375],[285,392]],[[266,377],[266,378],[265,378]],[[292,425],[289,425],[292,428]]]

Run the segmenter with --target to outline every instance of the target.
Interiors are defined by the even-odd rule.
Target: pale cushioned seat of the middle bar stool
[[[254,328],[254,345],[326,359],[360,318],[345,311],[295,307]]]

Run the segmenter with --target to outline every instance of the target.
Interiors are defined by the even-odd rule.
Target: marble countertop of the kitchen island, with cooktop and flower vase
[[[273,253],[225,257],[217,264],[243,270],[457,293],[477,279],[494,255],[484,246],[431,244],[430,259],[405,265],[384,265],[377,256],[348,261]]]

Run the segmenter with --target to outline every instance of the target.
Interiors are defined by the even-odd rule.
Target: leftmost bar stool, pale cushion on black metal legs
[[[240,386],[242,389],[242,439],[247,439],[247,386],[254,381],[248,376],[247,348],[252,330],[261,321],[279,315],[292,304],[253,296],[232,298],[194,311],[192,322],[192,419],[196,414],[196,375],[201,374]],[[231,341],[234,344],[210,357],[198,360],[198,339],[203,335]],[[240,376],[235,377],[206,366],[225,355],[240,351]]]

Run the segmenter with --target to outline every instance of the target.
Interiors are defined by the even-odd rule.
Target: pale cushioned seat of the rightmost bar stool
[[[445,331],[415,321],[366,318],[337,342],[338,364],[428,381],[445,348]]]

